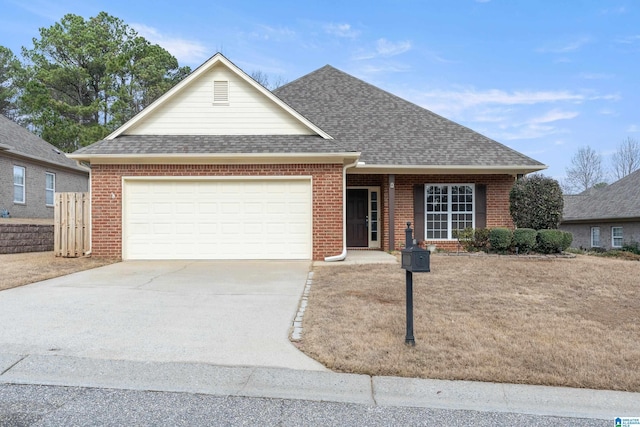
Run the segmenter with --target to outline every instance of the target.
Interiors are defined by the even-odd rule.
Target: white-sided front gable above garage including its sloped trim
[[[228,102],[214,102],[214,82],[228,82]],[[331,136],[218,53],[133,117],[121,135]]]

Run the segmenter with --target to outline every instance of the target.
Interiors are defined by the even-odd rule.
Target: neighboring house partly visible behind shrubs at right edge
[[[604,188],[565,196],[560,229],[573,234],[576,248],[640,242],[640,170]]]

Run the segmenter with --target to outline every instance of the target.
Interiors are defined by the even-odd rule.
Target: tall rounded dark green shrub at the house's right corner
[[[518,228],[556,229],[563,207],[560,184],[544,175],[517,180],[509,193],[509,212]]]

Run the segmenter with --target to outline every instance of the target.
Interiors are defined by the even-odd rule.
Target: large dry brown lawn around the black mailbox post
[[[434,256],[415,273],[416,346],[396,265],[315,269],[301,349],[369,375],[640,391],[640,263]]]

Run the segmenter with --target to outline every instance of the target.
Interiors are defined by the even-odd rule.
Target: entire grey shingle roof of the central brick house
[[[331,66],[273,92],[334,139],[304,135],[124,135],[74,154],[340,153],[382,166],[544,165]]]

